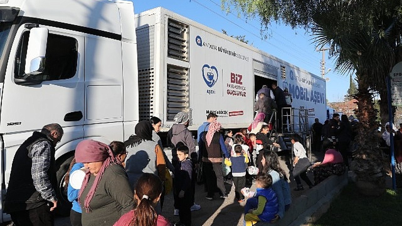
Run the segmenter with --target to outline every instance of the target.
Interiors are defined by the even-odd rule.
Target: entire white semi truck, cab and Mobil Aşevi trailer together
[[[0,56],[0,210],[16,150],[49,123],[64,128],[56,193],[68,213],[63,179],[81,140],[126,140],[150,116],[167,130],[178,111],[192,130],[209,112],[245,127],[273,81],[293,107],[326,115],[321,78],[163,8],[134,15],[129,1],[0,0]]]

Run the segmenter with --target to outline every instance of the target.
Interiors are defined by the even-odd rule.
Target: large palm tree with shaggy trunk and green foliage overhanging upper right
[[[263,27],[271,21],[312,31],[318,47],[330,46],[336,70],[355,72],[359,109],[358,150],[354,171],[363,193],[384,191],[385,173],[377,150],[373,93],[386,100],[385,78],[402,59],[401,2],[397,0],[222,0],[222,8],[259,16]],[[386,101],[380,101],[381,119],[388,119]]]

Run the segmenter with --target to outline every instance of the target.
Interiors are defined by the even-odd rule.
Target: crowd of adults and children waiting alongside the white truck
[[[265,98],[260,94],[260,99]],[[267,117],[271,119],[269,112],[257,113],[248,129],[234,134],[232,130],[223,133],[217,115],[209,113],[197,131],[197,151],[196,141],[187,128],[190,115],[179,112],[167,133],[172,159],[162,148],[158,136],[161,120],[157,117],[137,123],[135,134],[124,142],[79,142],[65,177],[68,199],[72,202],[72,226],[172,225],[161,215],[164,196],[170,191],[174,197],[174,215],[180,219],[174,225],[190,226],[191,212],[201,208],[194,199],[195,183],[205,183],[206,199],[226,199],[224,182],[228,178],[233,182],[238,203],[245,202],[245,225],[280,220],[291,204],[289,177],[272,150],[279,144],[269,138]],[[335,121],[328,124],[328,136],[341,130],[340,127],[347,128]],[[57,208],[54,154],[62,136],[60,125],[45,125],[14,156],[4,211],[11,215],[16,226],[54,224],[53,210]],[[310,166],[306,150],[298,136],[291,138],[296,191],[304,189],[300,178],[311,188],[330,174],[345,170],[344,158],[335,147],[345,147],[343,142],[347,141],[341,135],[336,139],[339,142],[332,137],[328,139],[324,160],[312,166],[313,184],[306,176]],[[231,172],[225,173],[225,167]],[[244,188],[253,183],[256,191],[250,196]]]

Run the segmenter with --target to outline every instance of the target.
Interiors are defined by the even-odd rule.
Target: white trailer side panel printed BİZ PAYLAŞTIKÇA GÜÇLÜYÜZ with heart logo
[[[193,124],[214,112],[223,127],[248,127],[254,112],[252,52],[193,26],[189,41]]]

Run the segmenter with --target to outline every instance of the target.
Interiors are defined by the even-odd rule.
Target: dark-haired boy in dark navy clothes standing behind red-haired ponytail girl
[[[185,145],[177,146],[178,164],[174,170],[174,200],[179,210],[180,222],[176,225],[191,225],[191,206],[193,205],[193,162],[188,158],[189,148]]]

